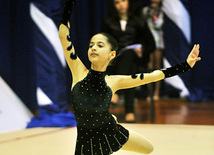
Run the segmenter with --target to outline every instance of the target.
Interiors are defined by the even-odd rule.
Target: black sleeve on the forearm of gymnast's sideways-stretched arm
[[[170,68],[162,69],[161,71],[165,74],[165,78],[169,78],[187,72],[190,69],[191,67],[189,66],[189,64],[187,62],[184,62]]]

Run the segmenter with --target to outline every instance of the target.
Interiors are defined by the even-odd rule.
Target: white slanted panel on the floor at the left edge
[[[32,113],[0,76],[0,134],[25,129]]]

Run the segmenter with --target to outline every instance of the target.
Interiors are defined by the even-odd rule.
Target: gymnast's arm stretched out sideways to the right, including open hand
[[[155,70],[152,73],[141,73],[130,76],[123,75],[109,76],[108,78],[111,79],[110,87],[112,88],[113,92],[116,92],[119,89],[132,88],[139,85],[156,82],[164,78],[178,75],[180,73],[184,73],[190,70],[197,61],[201,60],[201,58],[198,57],[198,55],[199,55],[199,44],[194,45],[186,62],[182,64],[167,69]]]

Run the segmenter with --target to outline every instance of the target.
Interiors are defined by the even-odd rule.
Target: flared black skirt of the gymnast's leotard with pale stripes
[[[78,127],[75,155],[109,155],[118,151],[128,140],[129,132],[113,118],[101,127]]]

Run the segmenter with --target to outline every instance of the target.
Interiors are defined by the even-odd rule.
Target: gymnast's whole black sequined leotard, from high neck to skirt
[[[72,89],[78,132],[75,155],[109,155],[128,140],[128,130],[109,113],[112,91],[105,76],[105,72],[90,70]]]

